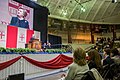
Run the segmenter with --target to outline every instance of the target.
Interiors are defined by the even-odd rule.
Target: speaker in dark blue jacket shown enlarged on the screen
[[[29,22],[25,20],[27,16],[27,11],[23,8],[19,8],[17,12],[17,17],[12,17],[10,25],[29,29]]]

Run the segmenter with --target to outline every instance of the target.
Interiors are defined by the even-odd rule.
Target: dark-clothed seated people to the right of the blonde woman
[[[96,68],[104,80],[113,80],[115,77],[117,79],[120,77],[118,75],[120,73],[120,53],[117,48],[105,48],[101,58],[98,51],[94,49],[89,51],[88,55],[90,56],[88,60],[89,68]]]

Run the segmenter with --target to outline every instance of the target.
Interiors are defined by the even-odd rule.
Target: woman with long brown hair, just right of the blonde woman
[[[98,71],[101,69],[101,57],[97,50],[92,49],[88,52],[89,60],[88,66],[90,69],[96,68]]]

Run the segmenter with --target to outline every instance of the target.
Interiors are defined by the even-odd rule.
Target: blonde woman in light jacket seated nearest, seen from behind
[[[68,73],[64,80],[80,80],[89,71],[86,62],[86,53],[83,49],[77,48],[73,54],[73,63],[68,67]]]

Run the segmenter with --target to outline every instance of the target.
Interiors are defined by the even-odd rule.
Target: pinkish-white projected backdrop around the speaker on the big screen
[[[29,22],[29,28],[33,30],[33,8],[13,0],[0,0],[0,24],[9,25],[11,18],[17,16],[19,8],[23,8],[27,11],[25,19]]]

